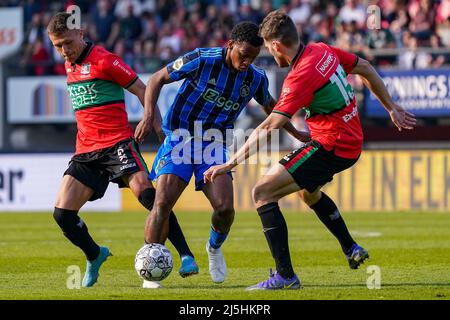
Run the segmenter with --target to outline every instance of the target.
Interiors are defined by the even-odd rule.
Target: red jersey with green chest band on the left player
[[[137,79],[122,59],[88,43],[73,64],[66,62],[67,89],[77,121],[76,154],[110,147],[133,137],[124,88]]]

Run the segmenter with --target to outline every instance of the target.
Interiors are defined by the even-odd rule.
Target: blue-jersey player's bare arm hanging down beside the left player
[[[142,143],[144,138],[150,133],[152,127],[155,126],[155,121],[158,121],[159,109],[156,105],[158,101],[159,93],[161,92],[161,88],[164,84],[169,83],[169,73],[167,72],[167,68],[163,68],[153,74],[148,80],[147,87],[145,88],[144,93],[144,116],[142,120],[136,126],[135,131],[135,139],[138,143]],[[156,118],[156,120],[155,120]],[[161,115],[159,115],[159,121],[161,119]],[[157,123],[156,123],[157,126]],[[159,128],[161,125],[159,125]],[[161,132],[157,132],[159,139],[161,139]]]

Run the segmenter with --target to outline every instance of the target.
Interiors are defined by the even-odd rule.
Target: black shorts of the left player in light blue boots
[[[74,155],[64,175],[93,189],[89,201],[94,201],[103,197],[109,182],[117,183],[119,188],[127,187],[122,177],[139,171],[148,174],[147,165],[136,141],[127,139],[109,148]]]

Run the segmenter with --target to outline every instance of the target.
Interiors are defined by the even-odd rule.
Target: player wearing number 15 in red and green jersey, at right
[[[205,180],[234,168],[265,141],[270,131],[283,127],[299,109],[306,110],[311,141],[283,157],[253,189],[253,200],[276,263],[268,280],[249,290],[298,289],[288,246],[286,222],[278,201],[299,192],[303,201],[339,240],[350,268],[356,269],[368,252],[351,237],[333,200],[321,191],[333,175],[358,160],[363,134],[352,87],[347,74],[358,74],[389,112],[398,128],[413,129],[413,114],[397,105],[375,71],[364,59],[324,43],[304,45],[292,20],[281,11],[268,14],[260,26],[264,45],[280,67],[290,67],[282,92],[271,115],[253,132],[246,144],[226,163],[205,172]]]

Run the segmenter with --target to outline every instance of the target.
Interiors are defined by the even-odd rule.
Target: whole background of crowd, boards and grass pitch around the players
[[[171,276],[164,284],[171,289],[161,293],[139,290],[132,261],[142,243],[145,213],[128,191],[111,185],[103,199],[82,209],[82,216],[98,241],[110,243],[114,259],[92,290],[67,290],[67,266],[84,260],[51,212],[74,151],[76,125],[63,61],[45,28],[55,12],[73,4],[81,8],[86,38],[122,56],[144,82],[186,51],[223,46],[235,23],[259,23],[277,8],[289,12],[304,42],[324,41],[371,61],[393,97],[417,115],[418,126],[398,132],[361,81],[350,77],[364,152],[326,192],[369,249],[369,263],[381,266],[384,290],[367,290],[365,269],[349,272],[338,244],[316,217],[298,218],[299,211],[311,211],[293,195],[281,206],[293,261],[308,290],[244,293],[242,288],[261,281],[273,263],[250,198],[265,163],[241,166],[234,175],[237,215],[224,246],[230,278],[223,286],[211,290],[204,253],[210,208],[190,186],[175,211],[201,274]],[[368,28],[370,5],[379,9],[380,29]],[[278,97],[286,70],[264,50],[256,64],[266,70],[270,91]],[[179,86],[164,87],[162,113]],[[142,106],[131,95],[126,99],[136,125]],[[250,104],[236,127],[255,128],[263,118]],[[299,129],[305,126],[302,119],[302,113],[293,119]],[[282,135],[281,154],[295,146]],[[141,147],[149,165],[157,147],[154,136]],[[450,0],[0,0],[0,299],[448,299],[449,212]],[[176,258],[175,270],[178,264]]]

